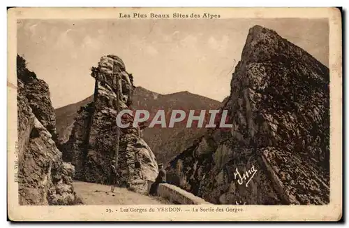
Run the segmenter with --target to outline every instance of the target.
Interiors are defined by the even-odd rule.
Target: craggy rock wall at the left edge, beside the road
[[[19,201],[21,205],[75,204],[74,166],[54,142],[54,109],[47,84],[17,56]]]

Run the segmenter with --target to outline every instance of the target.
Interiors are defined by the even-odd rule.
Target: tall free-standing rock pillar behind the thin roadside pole
[[[120,90],[117,90],[117,74],[121,78]],[[63,146],[64,160],[75,165],[75,179],[108,184],[110,163],[117,144],[117,106],[120,111],[131,109],[133,77],[115,55],[101,57],[98,67],[92,67],[91,76],[96,78],[94,101],[78,111],[70,138]],[[120,129],[119,185],[144,192],[147,179],[154,180],[158,174],[156,159],[140,137],[140,129],[132,127],[133,116],[124,115],[122,122],[131,124]]]

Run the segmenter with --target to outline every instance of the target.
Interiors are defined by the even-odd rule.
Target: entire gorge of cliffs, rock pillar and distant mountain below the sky
[[[141,194],[163,162],[168,183],[212,204],[329,203],[329,69],[276,31],[249,29],[223,102],[135,87],[117,55],[101,57],[91,77],[91,97],[54,110],[48,85],[17,57],[21,204],[75,204],[73,179],[108,184],[115,157],[119,187]],[[124,112],[128,126],[117,129],[118,110],[226,118],[200,129],[177,112],[173,128],[157,128]]]

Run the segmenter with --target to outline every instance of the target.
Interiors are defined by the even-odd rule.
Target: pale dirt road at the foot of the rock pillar
[[[114,193],[110,192],[110,186],[82,181],[73,183],[77,196],[85,205],[138,205],[138,204],[168,204],[165,200],[149,197],[115,187]]]

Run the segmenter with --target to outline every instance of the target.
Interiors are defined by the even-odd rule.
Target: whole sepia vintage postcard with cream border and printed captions
[[[338,221],[338,8],[10,8],[8,218]]]

